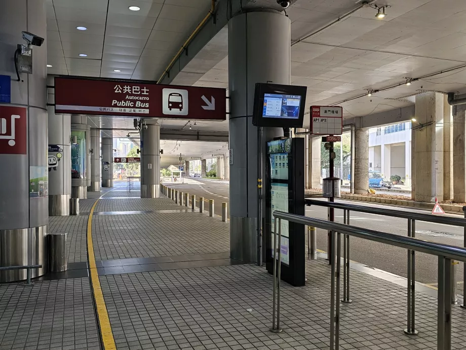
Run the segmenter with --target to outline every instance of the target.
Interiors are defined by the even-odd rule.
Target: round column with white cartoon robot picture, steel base
[[[53,97],[49,94],[49,100]],[[57,115],[55,107],[49,106],[48,119],[49,216],[67,216],[71,198],[71,117]]]

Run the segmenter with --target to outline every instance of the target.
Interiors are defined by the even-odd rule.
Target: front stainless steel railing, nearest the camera
[[[466,262],[466,249],[435,243],[414,237],[400,236],[392,233],[379,232],[361,227],[340,224],[321,219],[309,218],[284,212],[274,212],[275,225],[278,231],[274,234],[274,256],[278,255],[280,261],[280,244],[277,248],[277,235],[281,237],[281,221],[313,226],[331,232],[331,299],[330,299],[330,350],[339,349],[340,332],[340,265],[341,265],[341,234],[369,239],[376,242],[390,244],[391,246],[405,248],[408,251],[421,252],[438,256],[438,307],[437,307],[437,349],[451,350],[451,262],[458,260]],[[336,238],[336,239],[335,239]],[[278,265],[278,268],[277,268]],[[273,321],[272,330],[280,332],[280,266],[274,264],[274,295],[273,295]],[[278,273],[277,273],[278,270]],[[336,278],[335,278],[336,277]],[[336,281],[335,281],[336,279]],[[277,322],[276,322],[277,302]]]

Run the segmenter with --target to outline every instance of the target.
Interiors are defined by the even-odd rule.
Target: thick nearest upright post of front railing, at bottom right
[[[439,256],[437,350],[451,350],[451,260]]]

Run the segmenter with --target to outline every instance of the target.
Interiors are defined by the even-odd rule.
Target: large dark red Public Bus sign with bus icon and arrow
[[[55,112],[225,120],[226,90],[56,77]]]

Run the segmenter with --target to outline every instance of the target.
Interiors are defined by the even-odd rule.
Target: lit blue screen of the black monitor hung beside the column
[[[298,119],[301,96],[283,94],[264,94],[263,118]]]

